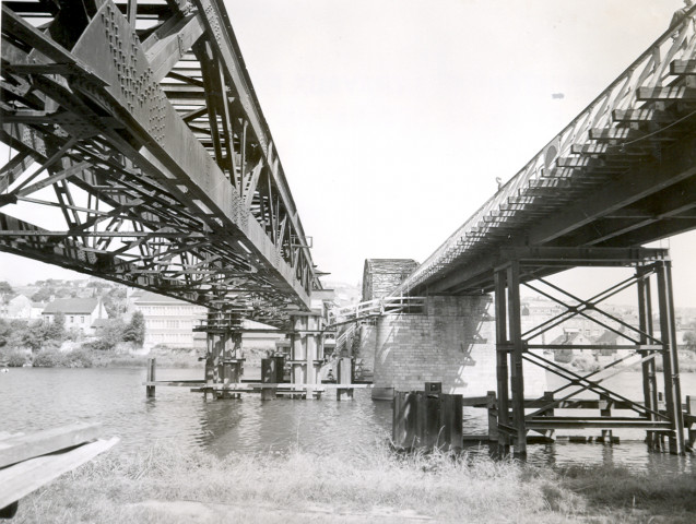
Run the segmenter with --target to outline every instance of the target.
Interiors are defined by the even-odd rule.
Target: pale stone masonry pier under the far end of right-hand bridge
[[[422,390],[441,382],[445,393],[485,395],[496,389],[495,317],[492,297],[430,296],[421,314],[382,315],[377,321],[373,398],[394,390]],[[524,369],[526,392],[542,395],[545,373]]]

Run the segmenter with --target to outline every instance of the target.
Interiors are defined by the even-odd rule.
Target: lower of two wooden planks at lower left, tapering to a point
[[[119,441],[118,437],[97,440],[60,454],[30,458],[0,469],[0,508],[26,497],[35,489],[104,453]]]

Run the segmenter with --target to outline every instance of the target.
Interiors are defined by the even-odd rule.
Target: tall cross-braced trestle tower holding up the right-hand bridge
[[[497,356],[497,415],[496,434],[502,453],[527,453],[527,432],[532,430],[550,437],[556,429],[590,429],[602,431],[599,440],[613,442],[613,429],[640,428],[647,431],[646,442],[651,450],[662,449],[662,439],[669,439],[669,452],[684,454],[684,413],[679,376],[679,355],[674,303],[672,296],[671,261],[665,249],[615,248],[520,248],[507,250],[508,262],[495,269],[496,356]],[[628,266],[635,267],[629,278],[603,290],[590,299],[580,299],[559,286],[539,277],[550,267],[567,266]],[[653,329],[651,281],[657,281],[659,335]],[[536,284],[541,283],[543,286]],[[565,310],[556,317],[522,332],[520,285],[524,285],[555,301]],[[602,310],[599,305],[632,286],[637,287],[638,326]],[[545,286],[545,287],[544,287]],[[551,289],[547,291],[545,289]],[[558,298],[561,295],[563,298]],[[536,344],[543,333],[563,322],[582,317],[616,333],[629,344],[553,345]],[[616,327],[618,326],[618,327]],[[589,374],[566,369],[542,352],[567,349],[617,349],[626,356]],[[663,395],[658,391],[656,358],[662,357]],[[567,384],[546,392],[538,401],[524,400],[523,361],[541,366],[565,379]],[[620,367],[620,365],[624,367]],[[636,402],[612,391],[602,382],[625,369],[640,364],[642,369],[642,402]],[[587,403],[577,395],[590,392],[598,395],[599,417],[555,416],[554,409],[574,403]],[[660,402],[660,397],[664,402]],[[527,402],[527,404],[526,404]],[[491,403],[488,403],[491,404]],[[579,404],[578,404],[579,405]],[[535,409],[530,409],[530,406]],[[636,416],[616,414],[616,406],[632,410]],[[527,409],[526,409],[527,408]],[[614,409],[614,410],[612,410]],[[510,413],[511,410],[511,413]],[[531,410],[531,413],[529,413]],[[510,416],[511,415],[511,416]],[[689,419],[691,420],[691,419]]]

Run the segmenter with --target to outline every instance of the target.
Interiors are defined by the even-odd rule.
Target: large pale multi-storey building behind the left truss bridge
[[[194,347],[193,326],[207,317],[207,308],[152,291],[134,291],[130,299],[145,320],[145,346]]]

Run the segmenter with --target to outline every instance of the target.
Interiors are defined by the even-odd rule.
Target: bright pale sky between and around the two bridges
[[[328,279],[351,284],[366,258],[425,260],[495,192],[496,177],[511,178],[682,7],[679,0],[225,4],[314,239],[315,263],[331,273]],[[675,301],[691,306],[696,234],[669,245]],[[0,253],[0,279],[64,274]],[[586,276],[577,282],[589,285]]]

